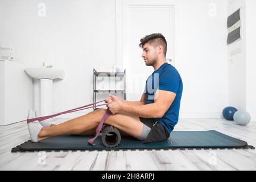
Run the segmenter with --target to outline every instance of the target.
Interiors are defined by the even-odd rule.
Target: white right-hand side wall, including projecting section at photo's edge
[[[251,121],[256,121],[255,85],[255,17],[256,2],[251,0],[229,0],[228,15],[242,9],[242,39],[228,46],[229,55],[229,105],[238,110],[246,110]],[[231,52],[241,49],[236,55]]]

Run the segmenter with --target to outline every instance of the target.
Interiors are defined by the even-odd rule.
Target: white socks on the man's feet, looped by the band
[[[27,118],[28,119],[35,118],[34,114],[35,114],[34,111],[32,109],[30,109],[28,111]],[[38,134],[43,126],[40,125],[39,121],[33,121],[31,123],[27,123],[27,126],[28,126],[28,131],[30,131],[31,141],[38,142]]]

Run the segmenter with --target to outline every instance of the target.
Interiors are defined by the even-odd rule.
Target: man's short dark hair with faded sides
[[[166,52],[167,52],[167,42],[166,38],[158,33],[158,34],[151,34],[151,35],[146,35],[144,38],[141,39],[141,43],[139,44],[139,47],[143,48],[144,44],[149,43],[151,46],[163,46],[163,54],[164,57],[166,57]]]

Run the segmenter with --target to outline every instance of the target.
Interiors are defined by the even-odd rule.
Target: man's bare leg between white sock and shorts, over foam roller
[[[105,111],[106,109],[98,109],[60,125],[44,127],[38,134],[38,141],[65,134],[93,135]],[[125,113],[113,114],[105,121],[105,124],[117,127],[122,133],[132,137],[141,137],[143,123],[139,121],[139,117],[134,115]]]

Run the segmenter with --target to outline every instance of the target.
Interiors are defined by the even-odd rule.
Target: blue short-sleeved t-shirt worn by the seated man
[[[147,78],[144,89],[146,104],[154,103],[156,90],[176,93],[174,102],[172,102],[164,116],[162,118],[155,118],[156,121],[166,127],[167,131],[171,133],[179,120],[180,100],[183,91],[183,82],[180,74],[171,64],[164,63]]]

